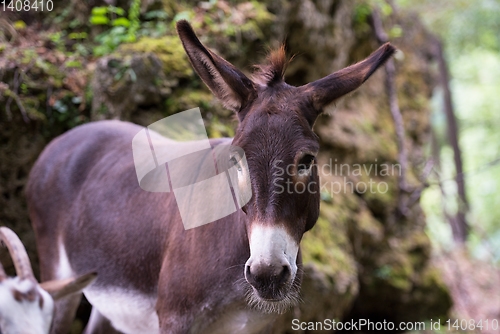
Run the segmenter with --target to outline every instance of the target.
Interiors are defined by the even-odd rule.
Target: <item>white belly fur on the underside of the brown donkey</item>
[[[85,297],[117,330],[126,334],[160,332],[156,314],[156,296],[120,288],[83,290]]]

